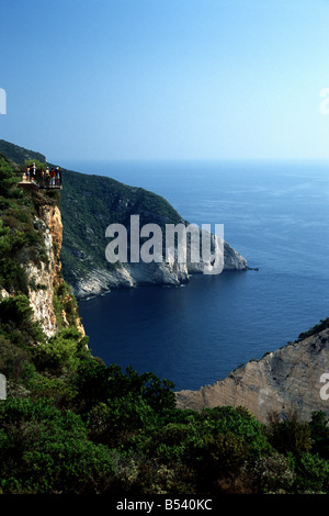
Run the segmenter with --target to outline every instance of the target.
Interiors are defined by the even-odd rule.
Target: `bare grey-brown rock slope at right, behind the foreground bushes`
[[[196,411],[245,406],[262,423],[268,422],[271,412],[286,417],[296,411],[303,420],[308,420],[315,411],[329,416],[329,400],[324,396],[326,373],[329,373],[329,329],[268,354],[259,361],[250,361],[213,385],[177,392],[177,406]]]

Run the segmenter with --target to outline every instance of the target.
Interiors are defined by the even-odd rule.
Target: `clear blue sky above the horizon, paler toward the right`
[[[329,158],[328,0],[1,0],[0,138],[49,160]]]

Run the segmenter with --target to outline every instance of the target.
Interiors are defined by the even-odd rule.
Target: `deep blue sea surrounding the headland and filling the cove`
[[[61,165],[151,190],[200,226],[224,224],[225,239],[260,269],[80,302],[89,346],[105,363],[200,389],[329,316],[328,162]]]

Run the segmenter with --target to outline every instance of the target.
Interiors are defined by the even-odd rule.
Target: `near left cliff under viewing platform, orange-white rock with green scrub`
[[[61,274],[60,194],[26,189],[13,171],[18,165],[3,156],[0,161],[0,319],[9,335],[14,321],[26,317],[48,339],[69,327],[82,338],[78,305]]]

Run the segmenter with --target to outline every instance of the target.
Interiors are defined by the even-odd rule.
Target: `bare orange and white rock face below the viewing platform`
[[[38,200],[39,201],[39,200]],[[59,329],[69,327],[72,323],[84,336],[78,307],[73,295],[67,289],[61,276],[61,262],[59,259],[63,243],[63,223],[58,205],[44,197],[34,209],[26,210],[23,231],[29,227],[29,237],[37,242],[38,253],[26,243],[14,257],[13,262],[19,263],[24,278],[26,295],[32,307],[32,318],[41,324],[47,337],[54,336]],[[8,215],[2,214],[7,221]],[[10,221],[10,218],[9,218]],[[13,223],[11,223],[13,224]],[[26,229],[27,233],[27,229]],[[14,244],[12,244],[14,248]],[[36,246],[35,246],[36,248]],[[59,295],[60,292],[60,295]],[[1,287],[0,300],[14,298],[20,293],[19,289]]]

